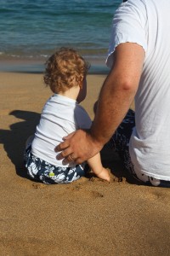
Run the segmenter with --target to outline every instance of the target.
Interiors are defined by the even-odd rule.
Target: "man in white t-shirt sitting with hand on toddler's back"
[[[65,149],[61,158],[87,160],[115,133],[111,140],[116,147],[126,138],[122,151],[130,153],[127,161],[135,177],[170,187],[169,9],[167,0],[128,0],[116,10],[106,61],[111,72],[100,91],[94,124],[88,133],[77,131],[56,148]],[[116,129],[134,96],[136,125],[128,144],[126,129]],[[124,124],[128,120],[127,133],[128,126],[133,128],[127,114]]]

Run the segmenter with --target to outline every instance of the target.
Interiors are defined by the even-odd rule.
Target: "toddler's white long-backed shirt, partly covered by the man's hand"
[[[54,94],[42,109],[31,153],[54,166],[75,166],[64,165],[63,160],[57,160],[59,153],[54,152],[54,148],[72,131],[89,129],[91,125],[88,113],[75,100]]]

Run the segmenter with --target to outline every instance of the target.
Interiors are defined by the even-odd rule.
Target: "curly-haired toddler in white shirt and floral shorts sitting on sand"
[[[44,82],[54,95],[45,103],[35,135],[27,140],[25,165],[28,174],[42,183],[71,183],[85,175],[86,163],[57,160],[54,148],[77,129],[89,129],[92,121],[78,103],[87,93],[89,65],[75,49],[61,48],[46,63]],[[95,175],[110,181],[110,174],[96,154],[88,160]]]

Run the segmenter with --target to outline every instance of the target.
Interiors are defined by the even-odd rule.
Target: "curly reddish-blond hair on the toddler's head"
[[[89,67],[75,49],[62,47],[48,58],[43,80],[53,92],[65,92],[82,81]]]

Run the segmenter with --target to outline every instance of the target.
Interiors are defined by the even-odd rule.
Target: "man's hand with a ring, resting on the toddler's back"
[[[103,148],[103,145],[95,141],[88,131],[77,130],[64,139],[65,141],[55,148],[56,152],[61,151],[57,156],[58,160],[65,159],[68,162],[81,164]]]

